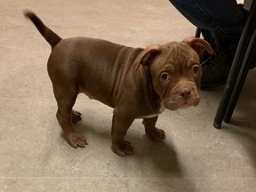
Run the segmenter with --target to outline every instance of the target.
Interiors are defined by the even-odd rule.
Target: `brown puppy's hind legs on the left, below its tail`
[[[64,138],[73,148],[84,148],[87,145],[84,135],[76,132],[73,123],[81,120],[81,114],[72,110],[77,97],[77,90],[70,84],[67,87],[53,85],[53,92],[58,103],[57,119],[64,132]]]

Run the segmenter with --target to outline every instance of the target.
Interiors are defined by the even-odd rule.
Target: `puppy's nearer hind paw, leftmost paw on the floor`
[[[68,144],[73,148],[85,148],[85,145],[88,145],[84,135],[78,132],[65,134],[64,137],[68,141]]]

